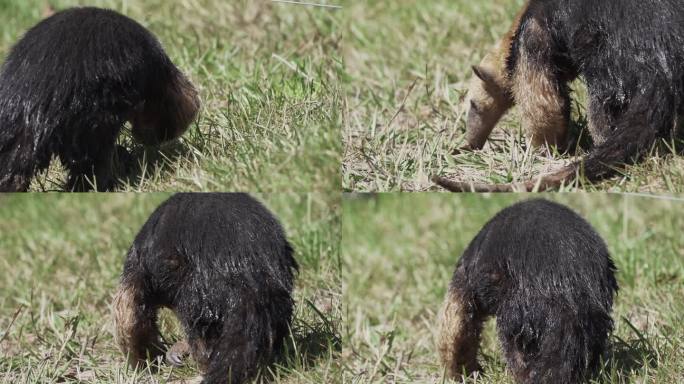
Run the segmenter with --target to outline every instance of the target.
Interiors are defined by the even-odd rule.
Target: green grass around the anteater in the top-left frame
[[[200,117],[178,142],[159,150],[121,135],[139,164],[121,191],[339,190],[339,12],[269,0],[0,0],[0,58],[51,10],[76,5],[146,26],[200,90]],[[31,188],[63,181],[54,161]]]

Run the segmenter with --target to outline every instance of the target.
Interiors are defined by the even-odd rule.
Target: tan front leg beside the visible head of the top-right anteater
[[[513,73],[513,95],[532,145],[565,149],[570,121],[570,95],[553,63],[550,36],[530,19],[523,31]]]

